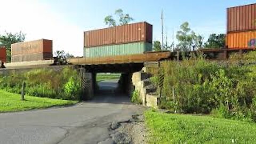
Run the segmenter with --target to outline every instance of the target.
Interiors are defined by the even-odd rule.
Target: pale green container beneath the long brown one
[[[139,42],[118,45],[106,45],[98,47],[84,48],[85,58],[108,57],[115,55],[140,54],[152,51],[152,44]]]

